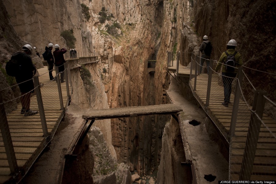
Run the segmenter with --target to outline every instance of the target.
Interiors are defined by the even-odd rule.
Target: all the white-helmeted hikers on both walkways
[[[230,103],[230,95],[232,91],[232,82],[236,77],[238,68],[242,66],[242,60],[240,53],[235,50],[237,46],[237,42],[235,40],[230,40],[227,44],[227,51],[221,54],[220,59],[217,63],[215,68],[215,72],[220,70],[222,66],[222,81],[224,86],[224,102],[222,102],[223,106],[228,107]],[[52,53],[52,49],[55,49]],[[36,50],[36,48],[34,48]],[[208,36],[203,37],[203,42],[201,43],[200,49],[201,51],[201,61],[200,61],[200,70],[201,73],[202,66],[204,62],[208,67],[207,73],[210,72],[209,70],[209,62],[210,56],[212,52],[212,44],[208,40]],[[33,75],[35,74],[36,68],[32,62],[31,54],[33,52],[33,47],[29,44],[26,44],[22,47],[22,51],[15,52],[10,61],[6,64],[6,72],[7,74],[14,76],[16,82],[19,86],[21,91],[21,114],[24,116],[31,116],[37,114],[38,111],[34,111],[30,109],[30,97],[31,93],[34,92],[34,83],[33,83]],[[35,51],[36,52],[36,51]],[[45,61],[47,61],[49,66],[49,77],[50,80],[56,80],[56,78],[52,75],[52,70],[54,68],[54,64],[58,67],[58,71],[60,73],[60,82],[64,82],[63,78],[63,71],[64,71],[64,63],[65,59],[63,54],[66,53],[67,50],[65,48],[60,49],[59,45],[53,45],[49,43],[48,46],[45,47],[45,52],[42,54]],[[37,54],[38,52],[36,52]],[[72,55],[71,55],[72,54]],[[76,57],[75,49],[70,50],[71,57]],[[39,53],[38,53],[39,55]],[[13,65],[13,63],[16,63]],[[17,67],[17,70],[14,68]],[[11,74],[13,73],[13,74]]]

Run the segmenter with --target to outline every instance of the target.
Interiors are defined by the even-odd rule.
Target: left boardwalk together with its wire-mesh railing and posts
[[[11,90],[19,91],[18,84],[0,91],[0,176],[14,176],[15,181],[23,176],[53,138],[71,100],[68,63],[64,68],[59,72],[56,67],[57,80],[52,81],[41,70],[45,73],[31,79],[35,87],[27,93],[11,96]]]

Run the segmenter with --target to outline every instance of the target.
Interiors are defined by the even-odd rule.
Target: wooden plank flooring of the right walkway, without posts
[[[168,68],[168,71],[176,73],[176,62],[174,62],[174,66]],[[184,66],[179,65],[177,76],[188,77],[188,75],[190,75],[190,69],[186,69]],[[196,90],[193,90],[195,87],[194,78],[190,81],[190,86],[192,91],[194,91],[195,98],[197,98],[201,107],[218,127],[220,133],[228,139],[234,95],[231,94],[230,102],[232,103],[230,103],[228,107],[221,105],[224,100],[224,89],[223,86],[218,84],[218,75],[213,74],[209,106],[206,106],[207,84],[207,74],[200,74],[197,76]],[[244,101],[240,100],[235,136],[230,143],[231,149],[229,150],[231,180],[239,180],[251,108],[251,106],[248,107]],[[269,127],[272,133],[276,133],[276,122],[271,117],[263,114],[263,122]],[[276,180],[276,139],[263,124],[261,124],[260,128],[251,180]]]

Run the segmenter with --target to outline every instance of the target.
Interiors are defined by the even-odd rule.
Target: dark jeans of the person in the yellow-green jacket
[[[222,82],[224,87],[224,102],[229,103],[232,92],[232,82],[236,77],[236,73],[222,72]]]

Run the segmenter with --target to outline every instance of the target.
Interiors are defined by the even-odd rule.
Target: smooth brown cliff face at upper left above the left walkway
[[[87,34],[85,19],[78,0],[32,0],[20,3],[5,0],[4,5],[17,34],[36,46],[36,50],[40,53],[44,52],[45,46],[50,42],[66,47],[66,42],[60,33],[71,29],[77,40],[75,48],[79,54],[92,52],[91,34]]]

